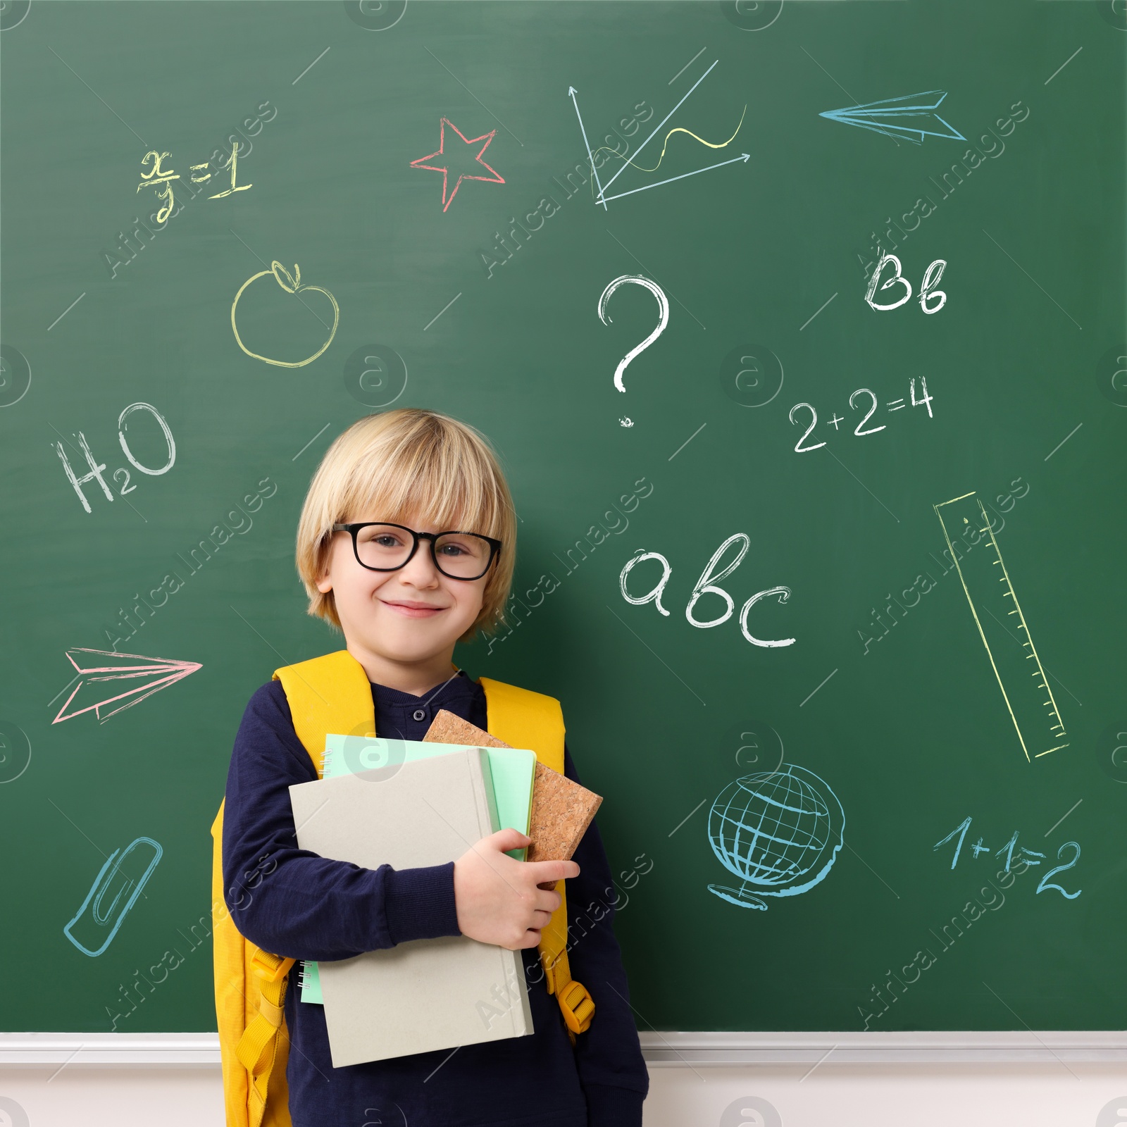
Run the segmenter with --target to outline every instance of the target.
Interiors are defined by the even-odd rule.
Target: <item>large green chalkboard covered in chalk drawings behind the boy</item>
[[[233,736],[392,402],[503,455],[458,659],[564,701],[641,1029],[1122,1028],[1121,6],[2,21],[6,1028],[214,1028]]]

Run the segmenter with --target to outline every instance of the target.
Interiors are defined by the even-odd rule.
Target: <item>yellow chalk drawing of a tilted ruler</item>
[[[1059,752],[1068,746],[1064,721],[983,503],[968,492],[932,507],[1027,761]],[[951,543],[950,525],[956,526],[956,535],[970,525],[982,536],[961,559]]]

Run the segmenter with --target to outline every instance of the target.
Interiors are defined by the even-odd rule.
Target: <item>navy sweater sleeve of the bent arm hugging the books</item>
[[[316,779],[272,681],[247,706],[227,780],[223,895],[239,932],[275,955],[326,960],[460,935],[453,861],[363,869],[298,848],[289,788]]]

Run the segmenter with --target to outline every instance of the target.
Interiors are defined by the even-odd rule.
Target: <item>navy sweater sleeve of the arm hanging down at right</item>
[[[579,782],[565,748],[564,773]],[[567,881],[568,964],[595,1002],[587,1031],[576,1039],[575,1058],[587,1098],[588,1127],[641,1127],[649,1073],[630,1009],[630,988],[612,923],[620,893],[598,827],[593,820],[573,860],[579,876]]]

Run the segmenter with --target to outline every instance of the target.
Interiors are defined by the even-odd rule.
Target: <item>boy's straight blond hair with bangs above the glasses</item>
[[[357,419],[321,459],[298,522],[298,574],[309,595],[308,613],[341,629],[334,593],[317,589],[334,524],[370,516],[398,524],[408,515],[502,541],[481,613],[462,640],[495,629],[504,616],[516,548],[505,476],[485,435],[449,415],[415,407]]]

